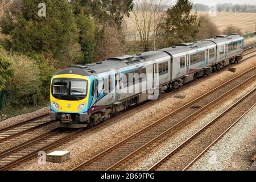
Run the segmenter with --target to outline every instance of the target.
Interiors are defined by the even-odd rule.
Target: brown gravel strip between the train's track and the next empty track
[[[237,68],[236,73],[229,71],[220,72],[208,80],[198,82],[185,90],[180,90],[179,94],[186,94],[184,100],[170,96],[164,101],[155,102],[154,105],[146,107],[144,110],[131,115],[130,117],[123,117],[118,122],[108,123],[103,129],[97,132],[88,132],[87,134],[79,137],[72,142],[63,144],[63,146],[56,148],[56,150],[71,151],[71,160],[62,164],[49,163],[39,165],[37,159],[24,163],[22,166],[15,169],[23,170],[67,170],[72,169],[77,164],[84,162],[93,155],[101,152],[106,147],[112,146],[120,140],[128,137],[136,131],[147,126],[149,123],[155,121],[166,113],[177,109],[181,105],[188,103],[203,93],[208,92],[210,89],[215,88],[221,83],[229,80],[230,78],[239,75],[242,71],[249,69],[256,65],[255,58],[247,60],[245,63],[234,65]],[[177,94],[177,93],[175,93]]]

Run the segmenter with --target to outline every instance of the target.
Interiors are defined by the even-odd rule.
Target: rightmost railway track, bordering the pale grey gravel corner
[[[256,88],[164,156],[149,170],[186,170],[256,105]],[[182,159],[182,160],[180,160]]]

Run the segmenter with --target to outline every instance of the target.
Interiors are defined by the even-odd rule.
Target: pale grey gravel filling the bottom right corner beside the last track
[[[189,170],[247,170],[256,152],[256,106]],[[214,160],[212,160],[214,159]]]

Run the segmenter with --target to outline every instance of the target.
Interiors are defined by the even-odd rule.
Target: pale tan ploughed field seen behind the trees
[[[193,12],[195,13],[195,12]],[[197,14],[206,15],[209,14],[207,11],[199,11]],[[136,35],[136,27],[131,18],[133,14],[130,14],[130,18],[125,18],[125,24],[127,27],[126,35],[128,40],[139,40]],[[240,27],[243,34],[249,32],[255,32],[256,30],[256,13],[217,13],[216,16],[210,16],[213,23],[216,24],[218,29],[222,32],[228,25]]]

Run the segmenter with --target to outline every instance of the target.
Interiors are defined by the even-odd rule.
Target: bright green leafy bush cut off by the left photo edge
[[[2,46],[0,46],[0,90],[5,88],[5,84],[14,75],[11,69],[11,61],[2,54]]]

